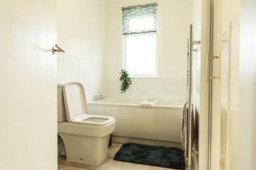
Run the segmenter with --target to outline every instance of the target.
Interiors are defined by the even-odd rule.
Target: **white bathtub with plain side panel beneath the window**
[[[88,103],[89,114],[113,116],[116,129],[112,135],[165,142],[181,142],[184,100],[161,101],[142,106],[144,99],[109,98]]]

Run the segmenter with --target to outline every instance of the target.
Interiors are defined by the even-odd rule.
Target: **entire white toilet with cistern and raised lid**
[[[58,134],[65,143],[67,160],[93,165],[102,163],[115,126],[114,117],[88,114],[82,84],[58,85]]]

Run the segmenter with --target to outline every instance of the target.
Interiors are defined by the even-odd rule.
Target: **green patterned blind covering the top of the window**
[[[157,4],[122,8],[123,35],[157,32]]]

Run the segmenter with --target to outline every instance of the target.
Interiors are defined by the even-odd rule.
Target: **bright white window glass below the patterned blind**
[[[127,36],[125,56],[131,75],[156,75],[156,35]]]

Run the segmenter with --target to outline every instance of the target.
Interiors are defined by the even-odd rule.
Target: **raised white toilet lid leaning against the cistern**
[[[65,84],[63,86],[63,97],[69,122],[72,122],[73,118],[78,115],[88,113],[86,94],[81,83]]]

